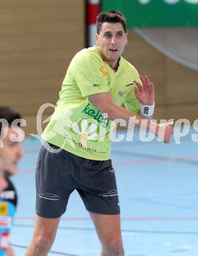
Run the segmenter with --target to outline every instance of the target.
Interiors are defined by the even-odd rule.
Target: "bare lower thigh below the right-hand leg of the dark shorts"
[[[90,217],[103,247],[106,247],[112,241],[122,241],[120,214],[104,215],[90,212]]]

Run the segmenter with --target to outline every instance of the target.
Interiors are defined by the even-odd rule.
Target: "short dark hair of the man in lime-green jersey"
[[[127,32],[125,16],[121,12],[118,12],[118,11],[101,12],[96,18],[97,34],[99,34],[101,30],[101,26],[103,25],[104,22],[109,22],[109,23],[119,22],[122,24],[124,28],[124,32],[125,33]]]

